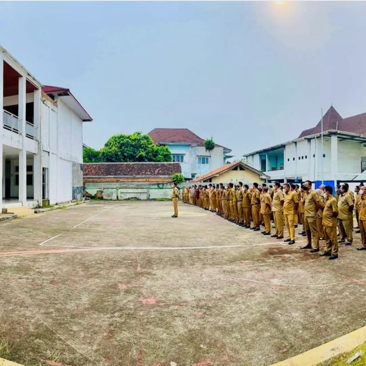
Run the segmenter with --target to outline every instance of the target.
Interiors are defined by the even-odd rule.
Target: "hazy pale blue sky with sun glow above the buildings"
[[[93,117],[83,142],[188,128],[240,156],[332,104],[366,112],[366,2],[0,2],[0,44]]]

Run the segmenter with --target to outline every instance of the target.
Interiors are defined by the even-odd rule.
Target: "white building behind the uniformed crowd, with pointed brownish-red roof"
[[[331,106],[321,121],[298,138],[245,154],[248,164],[271,181],[366,182],[366,113],[342,118]]]

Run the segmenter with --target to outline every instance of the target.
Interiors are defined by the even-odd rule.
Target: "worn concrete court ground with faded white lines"
[[[329,261],[302,236],[289,246],[181,202],[171,215],[100,201],[0,223],[12,359],[265,366],[366,324],[359,234]]]

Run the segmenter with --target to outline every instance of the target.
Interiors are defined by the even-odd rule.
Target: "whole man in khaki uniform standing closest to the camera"
[[[333,188],[324,187],[324,193],[327,196],[323,211],[323,227],[325,235],[325,252],[320,254],[321,257],[329,257],[329,259],[338,258],[338,241],[337,241],[337,217],[338,204],[337,200],[332,196]]]

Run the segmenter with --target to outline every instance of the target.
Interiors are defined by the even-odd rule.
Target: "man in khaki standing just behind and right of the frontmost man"
[[[351,195],[348,193],[348,187],[343,185],[341,187],[341,196],[338,200],[338,219],[340,224],[341,239],[339,244],[344,243],[345,246],[352,245],[353,241],[353,201]],[[345,239],[347,237],[347,241]]]

